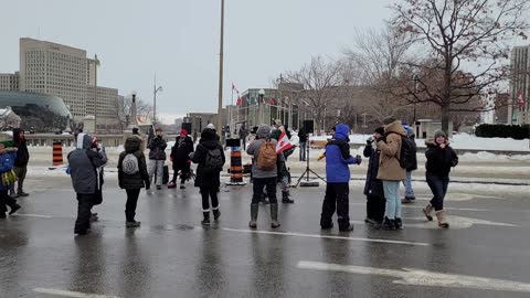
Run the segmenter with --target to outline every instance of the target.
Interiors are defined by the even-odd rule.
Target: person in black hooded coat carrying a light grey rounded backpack
[[[125,203],[125,226],[137,227],[140,222],[135,220],[136,206],[140,190],[149,190],[149,174],[147,172],[146,157],[140,150],[141,141],[138,138],[129,137],[125,140],[125,151],[118,159],[118,183],[120,189],[127,192]]]

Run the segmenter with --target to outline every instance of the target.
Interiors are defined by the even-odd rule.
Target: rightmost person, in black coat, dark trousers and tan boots
[[[451,148],[447,140],[447,135],[444,131],[437,130],[434,134],[434,141],[425,142],[427,150],[425,163],[427,184],[433,192],[433,199],[427,204],[423,212],[428,221],[433,220],[432,212],[436,212],[439,227],[449,227],[449,223],[445,217],[444,199],[447,194],[449,185],[451,168],[458,164],[458,156],[455,150]]]

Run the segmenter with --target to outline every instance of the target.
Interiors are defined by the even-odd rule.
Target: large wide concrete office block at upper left
[[[86,51],[33,39],[20,39],[20,89],[63,98],[74,118],[86,115]]]

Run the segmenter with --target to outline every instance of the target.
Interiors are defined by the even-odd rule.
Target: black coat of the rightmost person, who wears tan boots
[[[458,156],[455,150],[449,146],[442,149],[434,142],[426,142],[427,150],[425,157],[427,162],[425,169],[427,174],[434,174],[437,177],[448,177],[452,167],[458,164]]]

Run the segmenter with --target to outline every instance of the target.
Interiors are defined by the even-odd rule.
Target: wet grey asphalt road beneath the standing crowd
[[[190,184],[142,191],[142,225],[130,230],[124,226],[125,192],[109,180],[103,205],[94,210],[100,220],[83,237],[73,235],[76,202],[67,178],[28,184],[32,194],[19,200],[20,214],[0,221],[0,297],[530,297],[528,188],[453,192],[447,231],[421,217],[428,193],[420,190],[421,200],[404,209],[405,230],[386,232],[362,223],[364,198],[353,185],[351,233],[320,231],[324,189],[296,189],[296,203],[280,204],[279,228],[269,227],[264,205],[258,232],[251,233],[248,185],[221,191],[222,215],[210,227],[200,226],[200,196]],[[306,262],[351,268],[319,269]],[[504,283],[489,279],[467,286],[433,281],[430,273],[403,283],[395,276],[403,268],[528,288],[499,289],[495,285]]]

